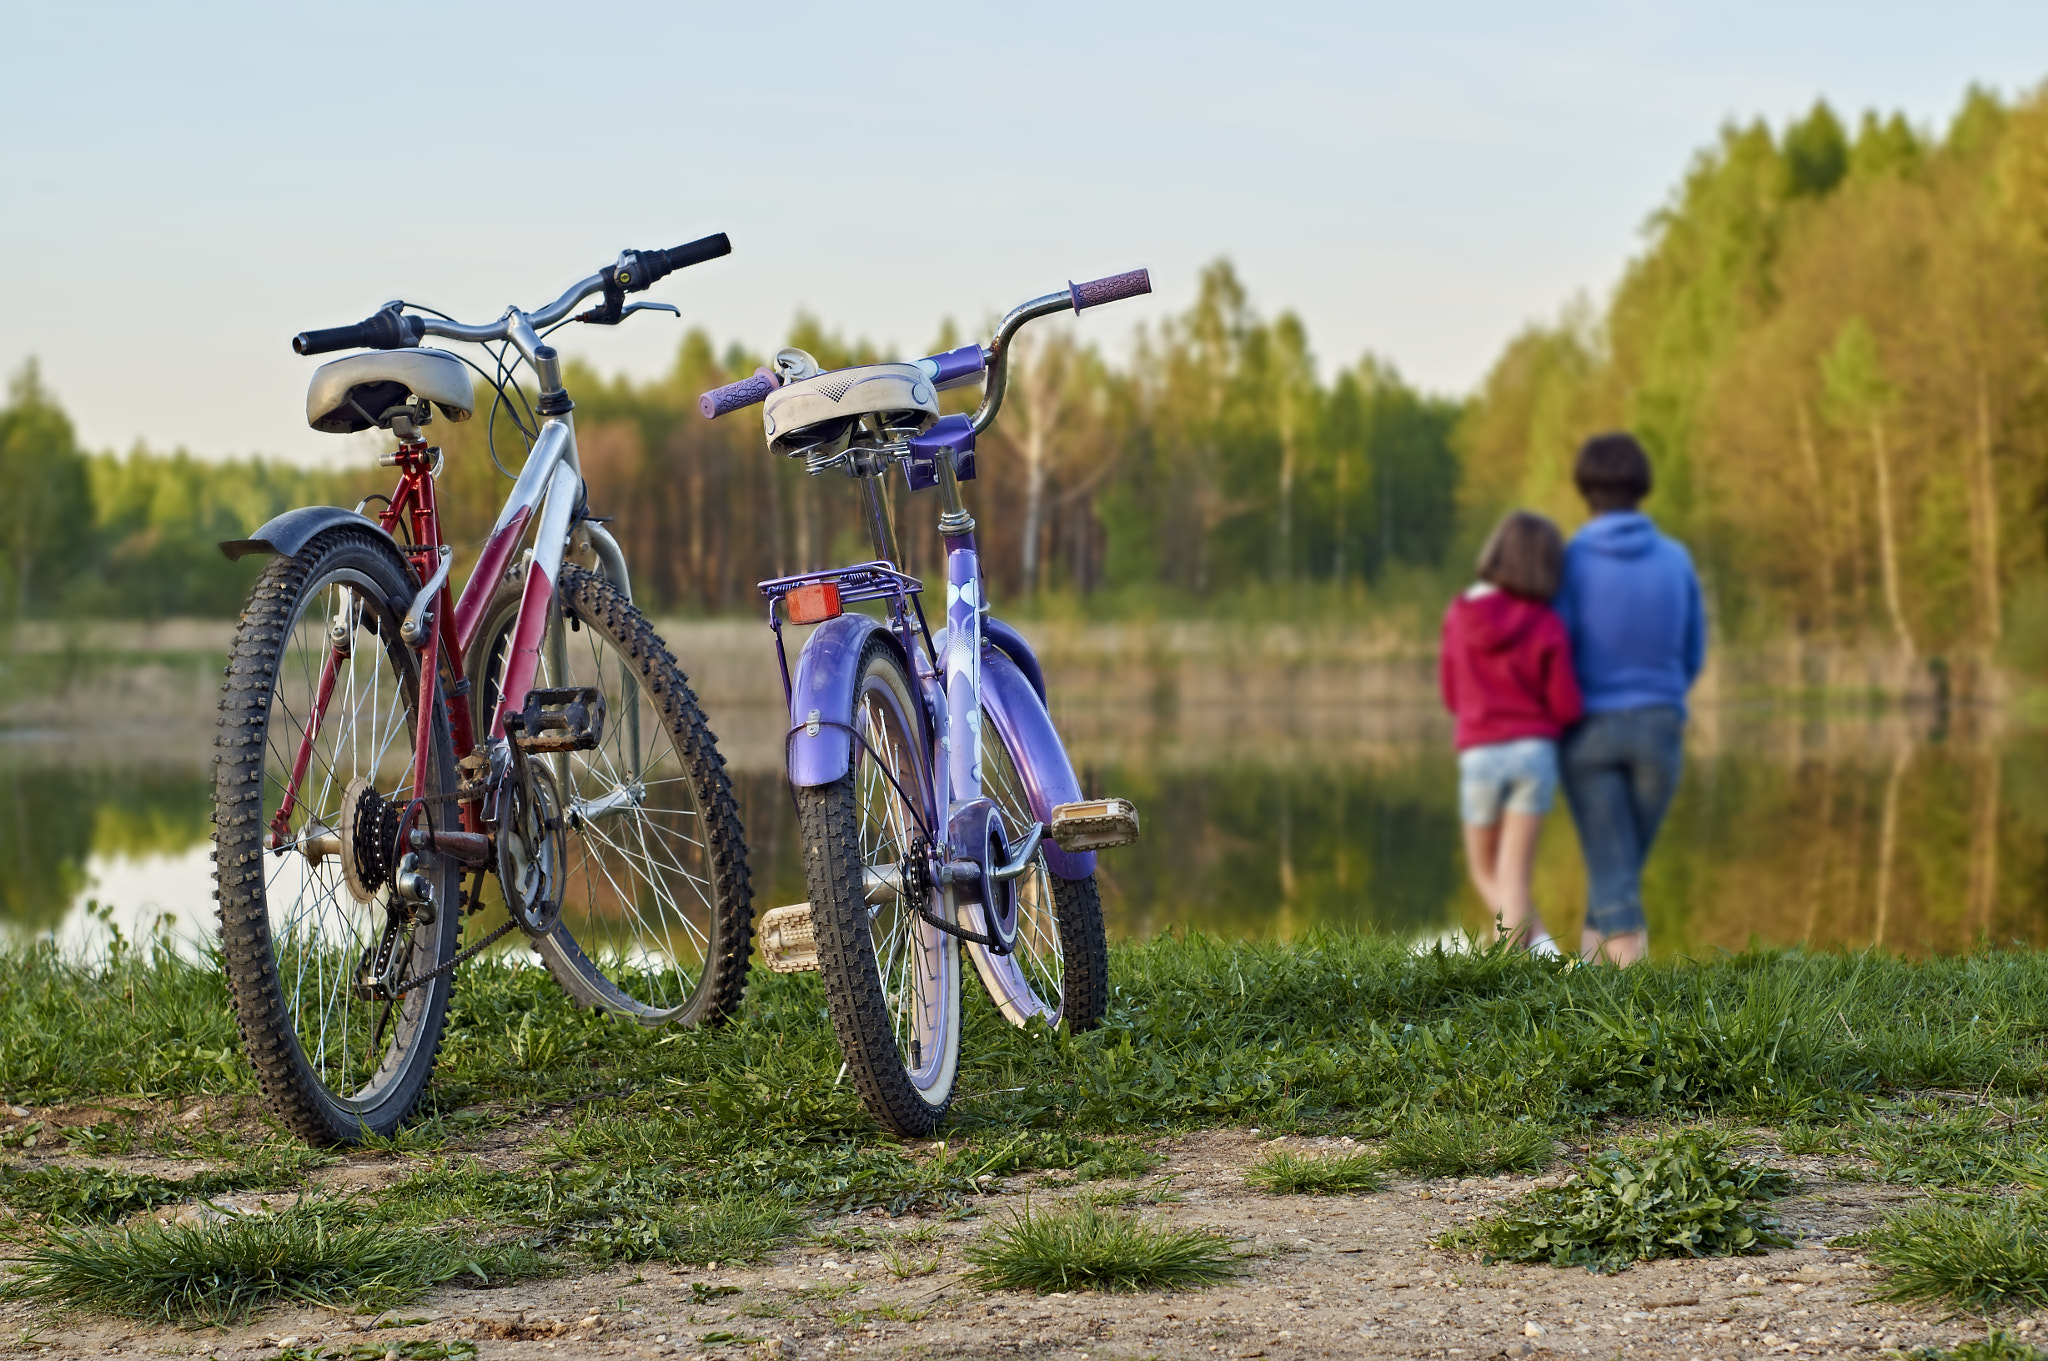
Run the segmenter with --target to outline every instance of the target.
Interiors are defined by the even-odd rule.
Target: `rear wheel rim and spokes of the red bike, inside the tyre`
[[[330,571],[305,589],[270,686],[264,729],[268,829],[313,712],[330,655],[328,630],[342,620],[350,653],[336,665],[334,692],[287,823],[289,837],[283,849],[264,853],[264,917],[299,1052],[328,1095],[350,1109],[375,1107],[403,1077],[432,993],[412,989],[399,1003],[354,995],[356,968],[383,937],[391,888],[381,886],[373,903],[356,903],[340,858],[322,855],[315,864],[303,849],[309,837],[340,827],[342,792],[358,776],[389,800],[408,802],[416,794],[414,667],[403,645],[385,645],[397,639],[397,618],[381,600],[377,583],[352,569]],[[453,911],[453,903],[442,901],[442,911]],[[403,956],[401,978],[438,962],[434,941],[430,925],[401,933],[395,946]]]

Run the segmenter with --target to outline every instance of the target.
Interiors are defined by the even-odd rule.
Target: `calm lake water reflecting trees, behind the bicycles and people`
[[[1311,927],[1432,937],[1483,923],[1458,860],[1456,776],[1436,716],[1294,718],[1307,731],[1061,714],[1083,784],[1135,798],[1145,815],[1145,839],[1102,858],[1114,935],[1188,925],[1233,937]],[[762,761],[745,765],[735,784],[758,907],[797,903],[788,790]],[[213,909],[209,798],[209,767],[197,761],[127,765],[98,753],[82,765],[49,743],[0,747],[0,923],[84,941],[80,913],[98,898],[129,935],[156,913],[193,935]],[[1538,862],[1538,903],[1561,935],[1577,931],[1583,890],[1561,815]],[[1903,712],[1704,712],[1645,896],[1659,954],[1751,939],[1909,954],[2040,941],[2048,733]]]

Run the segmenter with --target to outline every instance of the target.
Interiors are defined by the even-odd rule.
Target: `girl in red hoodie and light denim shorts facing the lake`
[[[1438,679],[1458,718],[1458,810],[1473,884],[1507,939],[1556,954],[1530,903],[1536,837],[1556,798],[1556,739],[1579,720],[1571,641],[1550,610],[1565,538],[1518,510],[1479,551],[1479,585],[1444,614]]]

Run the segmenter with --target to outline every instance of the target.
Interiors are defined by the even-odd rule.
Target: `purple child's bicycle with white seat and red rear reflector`
[[[1096,851],[1139,835],[1122,798],[1081,796],[1047,712],[1044,673],[989,614],[961,483],[1004,401],[1026,321],[1151,293],[1145,270],[1016,307],[987,348],[823,372],[803,350],[705,393],[707,418],[764,403],[768,448],[860,481],[874,561],[762,581],[788,698],[788,780],[809,903],[762,917],[762,958],[817,970],[868,1111],[930,1134],[961,1062],[961,948],[1014,1025],[1090,1029],[1108,1005]],[[981,407],[938,393],[983,379]],[[897,563],[885,473],[938,489],[946,620]],[[881,602],[881,614],[850,614]],[[815,624],[791,671],[782,624]]]

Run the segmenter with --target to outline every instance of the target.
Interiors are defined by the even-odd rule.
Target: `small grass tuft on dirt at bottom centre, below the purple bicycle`
[[[1231,1238],[1174,1228],[1090,1199],[1022,1210],[967,1246],[981,1289],[1176,1289],[1237,1275]]]

